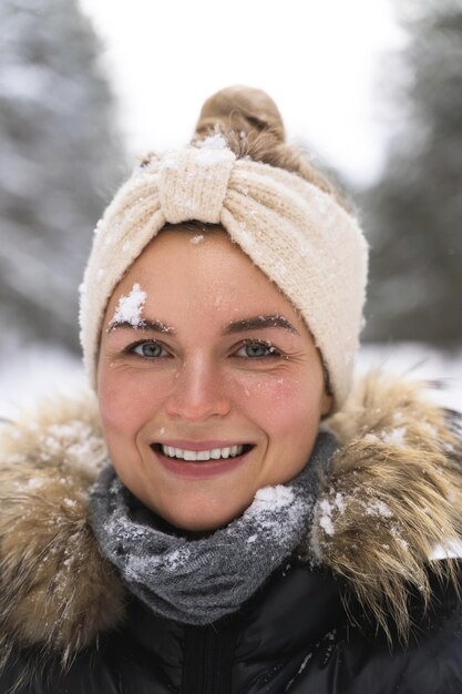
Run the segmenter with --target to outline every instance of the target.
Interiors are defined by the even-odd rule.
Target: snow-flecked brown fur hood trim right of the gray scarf
[[[435,386],[438,384],[433,384]],[[427,388],[429,384],[427,384]],[[459,588],[462,555],[462,439],[458,412],[429,399],[425,385],[369,374],[329,428],[340,449],[322,480],[310,550],[347,580],[390,637],[407,640],[409,595],[431,601],[431,572]]]

